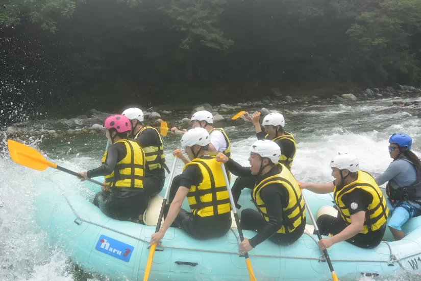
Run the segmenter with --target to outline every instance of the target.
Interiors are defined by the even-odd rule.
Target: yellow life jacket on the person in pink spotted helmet
[[[114,144],[123,143],[126,146],[126,157],[116,163],[114,171],[105,176],[105,184],[110,188],[143,188],[145,156],[139,145],[133,140],[120,139]],[[102,162],[107,159],[104,153]]]

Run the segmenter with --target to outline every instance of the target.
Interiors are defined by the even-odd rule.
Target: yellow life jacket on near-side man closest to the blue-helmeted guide
[[[379,229],[383,224],[386,223],[389,210],[386,205],[386,200],[380,191],[379,185],[372,177],[364,171],[358,171],[357,180],[345,185],[342,189],[335,189],[333,191],[335,204],[338,206],[339,214],[346,224],[351,224],[350,210],[345,207],[342,202],[342,196],[351,193],[355,189],[362,189],[373,196],[373,202],[368,205],[368,209],[365,210],[364,228],[361,233],[367,233],[368,231],[374,231]]]

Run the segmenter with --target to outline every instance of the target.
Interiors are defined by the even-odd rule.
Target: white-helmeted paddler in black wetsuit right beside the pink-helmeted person
[[[132,123],[132,137],[136,140],[146,156],[144,192],[153,197],[161,192],[165,183],[165,170],[169,169],[165,162],[164,145],[157,129],[143,125],[143,111],[132,107],[123,111]],[[165,170],[164,170],[165,169]]]

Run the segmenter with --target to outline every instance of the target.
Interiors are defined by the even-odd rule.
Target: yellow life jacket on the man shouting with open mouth
[[[304,218],[306,217],[306,207],[301,195],[301,190],[299,188],[298,182],[295,180],[294,176],[281,163],[276,163],[276,165],[281,170],[281,173],[275,176],[271,176],[262,180],[257,184],[253,190],[252,197],[253,202],[255,203],[259,213],[262,217],[268,222],[269,217],[266,212],[266,206],[260,197],[260,192],[262,189],[271,183],[280,183],[289,195],[289,202],[287,206],[283,206],[283,218],[282,218],[282,227],[277,231],[278,233],[287,233],[293,231],[298,227]]]

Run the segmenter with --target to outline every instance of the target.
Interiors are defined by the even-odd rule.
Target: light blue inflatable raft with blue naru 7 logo
[[[101,180],[101,179],[100,179]],[[92,185],[86,184],[90,189]],[[80,195],[65,195],[51,181],[40,182],[35,199],[37,223],[48,233],[49,242],[63,249],[81,268],[104,274],[112,280],[143,280],[148,242],[155,226],[118,221]],[[333,205],[330,194],[305,191],[314,216]],[[250,192],[239,203],[252,207]],[[188,207],[184,203],[184,207]],[[309,216],[307,223],[311,224]],[[387,242],[389,231],[375,249],[361,249],[341,242],[328,249],[339,278],[378,276],[404,270],[421,271],[421,217],[408,222],[405,239]],[[311,228],[311,227],[309,227]],[[310,231],[311,232],[311,231]],[[257,280],[327,280],[331,274],[310,232],[290,246],[265,241],[250,252]],[[254,231],[244,231],[252,238]],[[347,278],[348,279],[348,278]],[[178,228],[169,228],[155,252],[149,280],[249,280],[244,257],[238,254],[238,232],[198,241]]]

